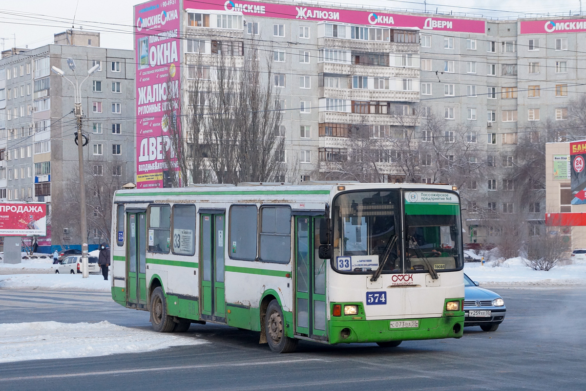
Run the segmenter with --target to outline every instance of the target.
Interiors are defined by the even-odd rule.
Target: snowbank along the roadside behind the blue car
[[[558,265],[549,271],[532,270],[522,257],[498,261],[465,263],[464,273],[480,283],[499,285],[586,285],[586,262]]]

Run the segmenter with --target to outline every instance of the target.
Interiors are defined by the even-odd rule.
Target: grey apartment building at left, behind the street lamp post
[[[91,185],[94,174],[117,177],[122,183],[134,177],[134,55],[131,50],[94,46],[99,40],[98,33],[68,30],[55,35],[60,45],[2,52],[0,200],[47,202],[50,227],[47,237],[39,239],[42,250],[79,246],[82,237],[79,212],[76,218],[71,205],[71,195],[79,194],[74,89],[51,72],[52,66],[75,83],[100,64],[81,89],[83,132],[90,140],[84,148],[86,182]],[[93,187],[100,192],[100,186]],[[97,217],[103,208],[92,205],[92,196],[87,210]],[[90,244],[104,241],[109,230],[97,220],[88,223]]]

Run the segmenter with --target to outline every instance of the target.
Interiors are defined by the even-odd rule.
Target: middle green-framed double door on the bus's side
[[[201,217],[200,317],[226,322],[224,295],[224,215],[203,214]]]

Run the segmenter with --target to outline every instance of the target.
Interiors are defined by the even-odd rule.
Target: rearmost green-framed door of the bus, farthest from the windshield
[[[147,215],[128,213],[128,304],[147,305]]]

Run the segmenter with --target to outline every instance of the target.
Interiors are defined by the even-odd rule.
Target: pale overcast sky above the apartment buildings
[[[0,5],[0,44],[2,49],[26,47],[30,49],[53,43],[53,35],[71,25],[75,28],[99,30],[101,46],[132,49],[132,7],[137,0],[21,0],[4,1]],[[366,4],[373,8],[385,6],[396,11],[423,10],[423,0],[338,0],[323,4]],[[547,16],[548,13],[569,15],[580,12],[580,1],[570,0],[559,4],[551,0],[428,0],[427,10],[435,12],[459,12],[475,16],[516,18],[529,12]],[[584,2],[586,13],[586,0]],[[537,16],[537,15],[536,15]],[[75,18],[75,21],[73,19]]]

